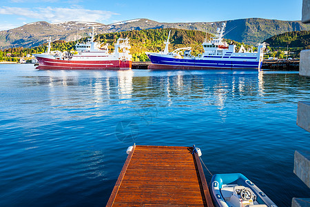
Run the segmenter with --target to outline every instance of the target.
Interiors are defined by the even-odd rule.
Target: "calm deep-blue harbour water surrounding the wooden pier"
[[[0,65],[0,91],[0,206],[105,206],[134,142],[196,144],[211,172],[243,173],[278,206],[310,197],[293,174],[294,150],[310,150],[296,72]]]

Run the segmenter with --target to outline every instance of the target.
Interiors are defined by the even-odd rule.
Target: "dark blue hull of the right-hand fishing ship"
[[[244,60],[223,59],[177,59],[170,57],[161,57],[157,55],[148,55],[149,59],[158,67],[151,67],[151,69],[252,69],[259,70],[262,62]],[[240,58],[242,59],[242,58]]]

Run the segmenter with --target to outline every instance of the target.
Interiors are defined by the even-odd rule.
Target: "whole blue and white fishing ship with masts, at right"
[[[152,61],[149,69],[176,69],[176,70],[201,70],[201,69],[246,69],[260,70],[266,43],[258,44],[258,51],[245,50],[243,46],[236,52],[235,45],[228,45],[223,41],[226,24],[218,28],[216,37],[203,42],[203,54],[198,57],[191,55],[192,48],[178,48],[169,52],[169,37],[165,41],[163,52],[145,52]],[[183,52],[184,51],[184,52]],[[182,55],[183,52],[183,55]]]

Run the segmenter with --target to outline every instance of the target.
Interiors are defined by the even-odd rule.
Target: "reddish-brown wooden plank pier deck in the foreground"
[[[107,206],[214,206],[193,148],[134,146]]]

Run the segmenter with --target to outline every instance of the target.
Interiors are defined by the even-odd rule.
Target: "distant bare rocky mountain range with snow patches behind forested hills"
[[[310,30],[310,25],[300,21],[280,21],[272,19],[236,19],[227,23],[225,38],[247,44],[256,44],[269,37],[283,32]],[[156,28],[178,28],[186,30],[200,30],[215,33],[222,21],[193,22],[193,23],[160,23],[149,19],[133,19],[104,25],[96,22],[66,21],[63,23],[48,23],[39,21],[28,23],[12,30],[0,31],[0,47],[32,47],[39,46],[52,37],[52,41],[72,41],[80,39],[96,28],[97,33],[122,32],[128,30],[143,30]]]

